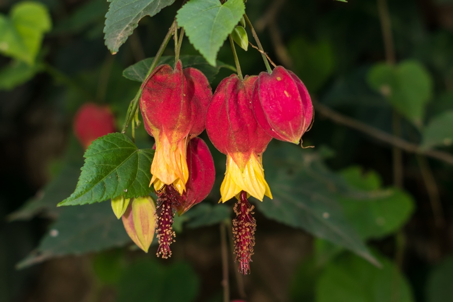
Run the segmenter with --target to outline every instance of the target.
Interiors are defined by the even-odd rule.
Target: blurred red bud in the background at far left
[[[86,149],[92,141],[103,135],[115,132],[115,117],[108,106],[85,103],[74,117],[74,133]]]

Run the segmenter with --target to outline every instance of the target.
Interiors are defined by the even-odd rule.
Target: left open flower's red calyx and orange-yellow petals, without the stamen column
[[[181,61],[174,70],[158,66],[143,83],[140,109],[145,129],[156,142],[151,164],[155,190],[173,185],[183,194],[189,179],[187,143],[204,130],[211,97],[206,76],[194,68],[183,70]]]

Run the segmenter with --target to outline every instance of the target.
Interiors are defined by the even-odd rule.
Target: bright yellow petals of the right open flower
[[[221,201],[227,201],[242,190],[261,201],[263,201],[264,195],[272,199],[269,186],[264,180],[264,169],[258,155],[250,156],[242,172],[231,156],[227,155],[227,171],[220,187]]]

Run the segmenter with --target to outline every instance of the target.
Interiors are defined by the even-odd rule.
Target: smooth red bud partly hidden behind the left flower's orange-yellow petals
[[[206,143],[198,137],[191,139],[187,146],[187,165],[189,180],[182,196],[182,204],[176,209],[179,215],[205,199],[216,178],[211,152]]]

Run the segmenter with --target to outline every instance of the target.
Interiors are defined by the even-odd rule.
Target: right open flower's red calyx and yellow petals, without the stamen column
[[[242,190],[263,200],[272,198],[264,180],[262,153],[271,137],[258,125],[251,106],[257,76],[240,80],[232,75],[222,80],[206,116],[206,131],[214,146],[227,154],[227,171],[221,186],[222,202]]]

